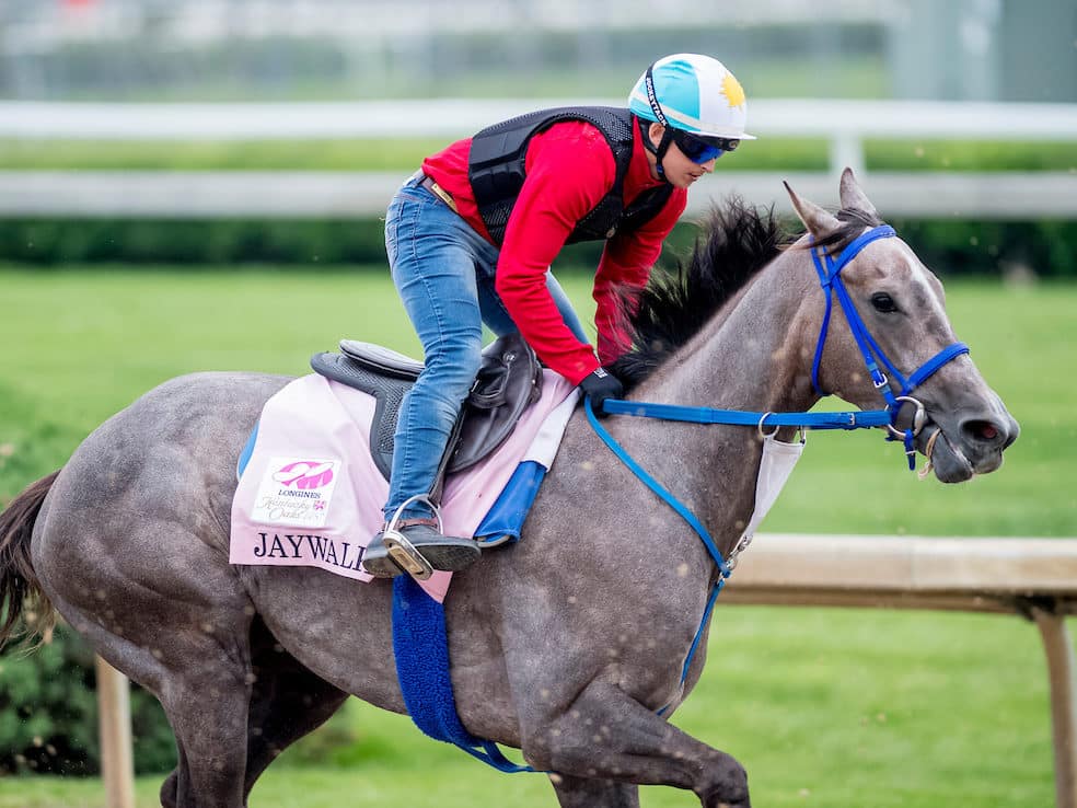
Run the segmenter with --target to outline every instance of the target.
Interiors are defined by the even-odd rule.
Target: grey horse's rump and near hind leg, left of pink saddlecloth
[[[54,485],[34,566],[68,622],[153,692],[178,808],[240,808],[252,694],[251,605],[228,564],[234,460],[275,380],[200,374],[100,427]]]

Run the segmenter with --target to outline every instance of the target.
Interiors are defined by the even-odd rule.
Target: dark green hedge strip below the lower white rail
[[[1021,266],[1044,277],[1077,277],[1077,222],[892,220],[939,275],[993,275]],[[697,231],[680,224],[675,251]],[[594,266],[600,243],[569,247],[560,263]],[[0,222],[0,262],[46,267],[100,263],[219,268],[278,264],[384,267],[383,224],[361,220],[9,219]]]

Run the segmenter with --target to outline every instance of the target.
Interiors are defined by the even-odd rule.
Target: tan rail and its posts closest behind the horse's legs
[[[721,600],[1017,612],[1034,621],[1047,659],[1056,806],[1077,808],[1077,661],[1065,624],[1066,615],[1077,614],[1077,539],[760,535]],[[115,699],[117,677],[99,667],[102,736],[129,743],[127,709],[105,708],[104,699]],[[103,764],[124,772],[128,760]],[[115,780],[109,788],[124,794]]]

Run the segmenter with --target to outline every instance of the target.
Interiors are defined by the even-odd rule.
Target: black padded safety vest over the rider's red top
[[[633,119],[628,109],[613,106],[561,106],[521,115],[489,126],[472,138],[467,178],[478,213],[494,243],[505,239],[505,228],[528,175],[524,160],[534,135],[563,120],[583,120],[594,126],[610,145],[617,165],[613,187],[599,204],[576,222],[566,243],[613,238],[632,232],[660,211],[673,186],[663,183],[648,188],[625,208],[624,184],[632,161]]]

